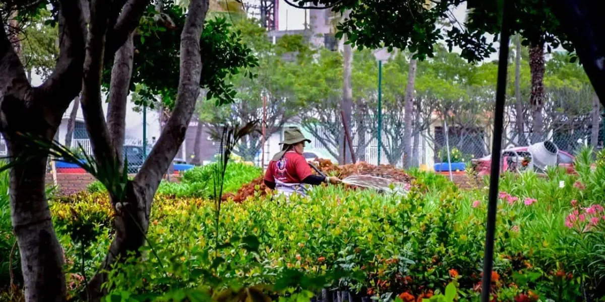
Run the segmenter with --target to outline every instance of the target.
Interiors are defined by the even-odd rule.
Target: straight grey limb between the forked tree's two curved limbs
[[[107,108],[107,126],[111,144],[115,149],[117,159],[122,162],[126,131],[126,101],[128,88],[132,77],[132,56],[134,56],[133,34],[116,52],[114,65],[111,69],[110,103]]]

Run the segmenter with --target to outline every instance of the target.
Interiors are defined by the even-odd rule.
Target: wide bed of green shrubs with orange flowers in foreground
[[[307,281],[292,277],[292,270],[310,278],[339,270],[345,277],[326,281],[330,288],[381,300],[389,293],[428,298],[446,293],[445,285],[455,280],[462,301],[473,300],[482,274],[487,190],[460,191],[443,176],[412,174],[416,186],[405,197],[329,186],[289,202],[278,196],[226,202],[218,232],[215,205],[208,199],[157,196],[145,261],[115,268],[108,285],[116,295],[165,296],[197,291],[202,284],[283,284],[290,277],[294,289],[306,289]],[[605,296],[605,266],[600,266],[605,220],[585,223],[588,232],[567,226],[575,210],[598,210],[591,193],[577,185],[581,178],[560,170],[546,178],[532,172],[503,175],[492,274],[502,301],[523,295],[543,301]],[[111,215],[108,201],[97,200],[101,195],[85,196],[77,206],[73,200],[52,204],[64,246],[74,246],[65,233],[71,208],[97,226]],[[105,231],[97,231],[90,247],[90,274],[111,240],[101,228]],[[73,249],[68,259],[80,262]]]

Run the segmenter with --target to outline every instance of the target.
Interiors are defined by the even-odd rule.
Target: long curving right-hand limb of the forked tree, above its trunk
[[[157,144],[134,179],[137,185],[146,188],[146,194],[150,195],[145,199],[148,202],[152,201],[151,197],[155,194],[162,176],[185,140],[185,133],[195,109],[195,101],[200,93],[202,68],[200,36],[207,11],[208,0],[191,0],[181,33],[180,76],[174,111],[162,130]],[[151,207],[151,204],[147,206]]]

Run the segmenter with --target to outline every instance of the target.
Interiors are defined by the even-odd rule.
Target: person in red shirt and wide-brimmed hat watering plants
[[[265,185],[281,194],[290,196],[294,192],[306,195],[305,184],[319,185],[324,182],[338,184],[341,182],[337,177],[313,175],[309,163],[302,156],[305,143],[310,142],[296,127],[284,130],[284,141],[280,143],[281,152],[273,156],[269,162],[269,168],[264,176]]]

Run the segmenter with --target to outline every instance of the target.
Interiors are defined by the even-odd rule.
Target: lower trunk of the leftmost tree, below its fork
[[[6,136],[11,156],[28,152],[10,135]],[[44,178],[47,157],[16,165],[10,173],[11,217],[19,245],[25,301],[65,301],[63,251],[54,233]]]

